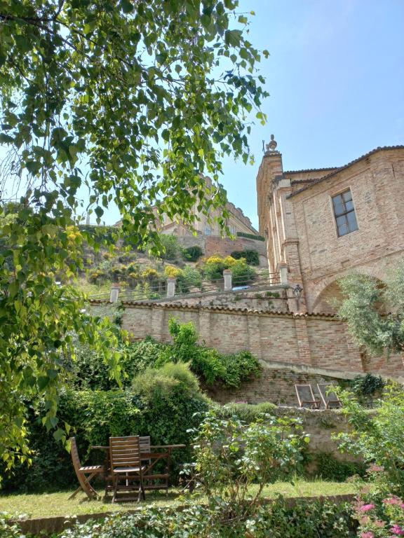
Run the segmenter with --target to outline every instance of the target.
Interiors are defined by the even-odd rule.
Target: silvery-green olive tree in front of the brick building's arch
[[[404,261],[396,265],[381,287],[362,273],[339,280],[344,299],[338,314],[354,340],[370,354],[400,353],[404,349]],[[384,313],[386,312],[386,313]]]

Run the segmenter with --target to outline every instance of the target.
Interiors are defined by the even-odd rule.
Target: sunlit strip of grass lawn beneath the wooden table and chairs
[[[357,493],[363,486],[360,482],[324,482],[324,481],[295,481],[294,485],[285,482],[278,482],[264,488],[263,497],[274,498],[278,494],[284,497],[314,497],[316,495],[344,495]],[[253,486],[254,488],[254,486]],[[99,491],[100,495],[103,492]],[[253,491],[252,491],[253,493]],[[154,504],[156,506],[175,506],[184,504],[191,497],[179,495],[173,489],[168,497],[163,492],[147,492],[146,502],[121,502],[111,504],[112,497],[107,499],[88,501],[84,494],[77,495],[74,499],[68,500],[71,491],[58,493],[41,493],[36,495],[0,495],[0,512],[6,512],[12,516],[25,516],[28,518],[40,518],[49,516],[74,516],[81,513],[99,512],[124,512]]]

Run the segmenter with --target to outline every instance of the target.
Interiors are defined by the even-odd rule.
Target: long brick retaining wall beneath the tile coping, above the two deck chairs
[[[175,317],[194,322],[201,343],[227,354],[250,350],[263,364],[276,361],[351,373],[404,375],[402,357],[380,357],[364,364],[346,325],[333,317],[179,303],[123,306],[123,329],[134,340],[149,335],[169,341],[168,320]]]

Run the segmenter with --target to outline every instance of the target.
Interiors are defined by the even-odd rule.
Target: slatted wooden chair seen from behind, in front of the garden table
[[[119,491],[137,491],[137,501],[144,495],[143,472],[147,466],[142,464],[139,436],[109,437],[109,457],[111,462],[114,497],[112,502],[119,499]],[[132,500],[122,497],[121,500]]]

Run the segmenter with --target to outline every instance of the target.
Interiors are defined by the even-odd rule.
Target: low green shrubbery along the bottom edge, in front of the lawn
[[[261,506],[255,518],[222,519],[223,506],[186,506],[183,510],[146,507],[130,516],[74,525],[59,538],[344,538],[356,537],[351,510],[324,499],[300,500],[293,506],[279,498]],[[1,527],[0,527],[1,528]],[[5,538],[16,538],[8,534]]]

